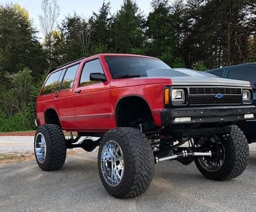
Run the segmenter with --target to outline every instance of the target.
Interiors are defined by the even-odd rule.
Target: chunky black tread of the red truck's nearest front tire
[[[139,129],[131,127],[110,129],[103,137],[103,140],[109,135],[118,136],[125,145],[128,152],[127,158],[132,167],[128,173],[131,183],[127,185],[129,187],[128,189],[126,186],[123,186],[117,192],[110,192],[106,186],[105,188],[111,195],[117,198],[130,198],[141,195],[149,188],[153,179],[154,159],[150,142]],[[100,166],[99,171],[101,171]],[[103,185],[105,185],[105,179],[101,175],[100,178]]]

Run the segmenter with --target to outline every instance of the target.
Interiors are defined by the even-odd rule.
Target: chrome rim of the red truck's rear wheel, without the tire
[[[35,153],[38,162],[43,163],[46,157],[46,141],[42,133],[38,133],[35,139]]]

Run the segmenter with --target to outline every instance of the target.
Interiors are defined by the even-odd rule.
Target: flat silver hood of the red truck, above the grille
[[[171,77],[173,85],[187,85],[187,86],[237,86],[250,87],[250,83],[242,80],[231,80],[219,77]]]

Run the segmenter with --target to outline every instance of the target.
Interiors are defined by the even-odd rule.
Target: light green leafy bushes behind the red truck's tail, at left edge
[[[27,68],[5,74],[8,85],[0,90],[0,132],[35,129],[37,94],[46,76],[47,72],[35,82]]]

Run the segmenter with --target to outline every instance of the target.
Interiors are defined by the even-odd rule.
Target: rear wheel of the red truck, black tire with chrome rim
[[[55,124],[39,126],[34,139],[34,152],[42,170],[60,169],[66,159],[66,142],[62,129]]]

